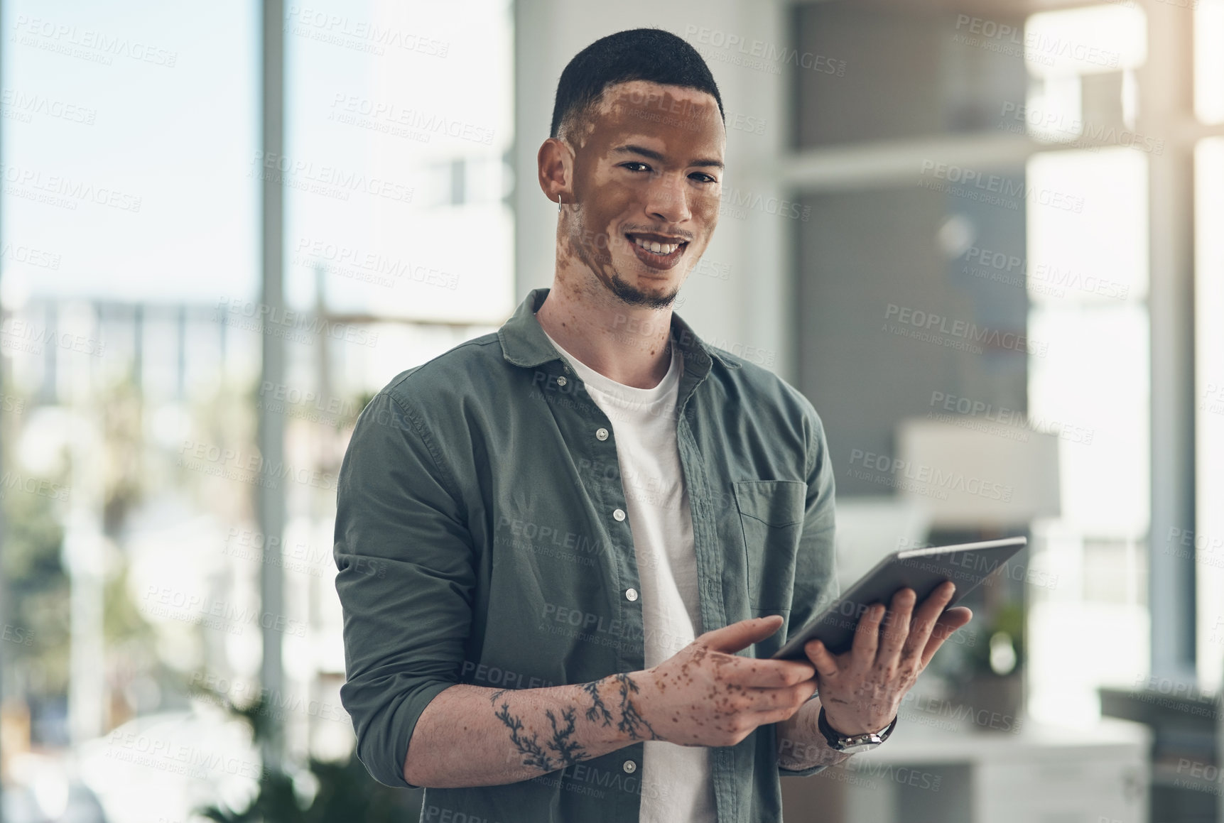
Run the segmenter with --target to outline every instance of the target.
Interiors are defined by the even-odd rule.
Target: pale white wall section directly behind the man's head
[[[557,79],[565,64],[601,37],[627,28],[656,27],[678,34],[701,51],[722,94],[723,109],[765,121],[764,133],[727,131],[728,187],[764,198],[785,197],[774,166],[789,124],[785,110],[785,73],[736,65],[737,37],[750,50],[753,40],[788,43],[782,0],[517,0],[515,2],[515,296],[552,285],[557,207],[536,181],[536,152],[548,136]],[[701,29],[707,29],[703,33]],[[714,45],[721,43],[721,48]],[[711,56],[714,55],[714,56]],[[723,57],[720,60],[718,57]],[[788,231],[802,223],[748,209],[747,219],[722,216],[704,259],[730,268],[721,280],[693,273],[681,291],[683,317],[703,339],[742,353],[793,382],[793,323]],[[736,347],[756,347],[744,351]]]

